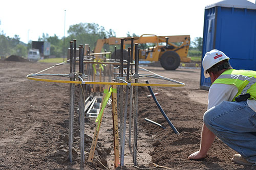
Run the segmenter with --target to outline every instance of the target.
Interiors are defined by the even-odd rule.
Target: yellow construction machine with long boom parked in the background
[[[134,38],[134,43],[155,44],[155,46],[147,47],[146,49],[140,49],[140,60],[155,62],[160,61],[161,66],[166,70],[175,70],[179,67],[180,62],[190,62],[190,58],[187,57],[190,44],[189,35],[157,36],[154,34],[143,34],[140,37],[123,38],[124,44],[131,44],[132,38]],[[121,38],[117,37],[98,39],[94,53],[100,53],[104,44],[119,45],[121,42],[120,39]],[[116,56],[116,59],[119,59],[120,50],[117,50],[116,54],[115,52],[112,53],[111,58],[114,59],[114,56]],[[123,52],[123,59],[127,59],[126,51]]]

